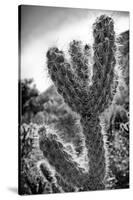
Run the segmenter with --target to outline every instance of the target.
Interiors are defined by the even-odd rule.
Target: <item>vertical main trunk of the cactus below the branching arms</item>
[[[88,186],[90,190],[104,189],[106,175],[105,145],[98,117],[81,118],[89,158]]]

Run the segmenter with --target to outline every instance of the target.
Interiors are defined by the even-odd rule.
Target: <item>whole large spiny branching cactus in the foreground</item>
[[[90,46],[83,46],[81,41],[70,43],[70,61],[57,47],[47,52],[48,72],[58,93],[72,111],[80,115],[88,171],[78,166],[54,134],[44,133],[40,148],[62,179],[79,191],[105,189],[107,149],[99,117],[113,99],[116,46],[112,18],[106,15],[97,18],[93,24],[93,37],[93,63]]]

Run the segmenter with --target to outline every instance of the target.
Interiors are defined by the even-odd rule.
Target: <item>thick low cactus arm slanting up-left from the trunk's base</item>
[[[54,166],[67,183],[77,187],[83,184],[85,178],[83,169],[67,153],[56,135],[43,134],[40,139],[40,149],[43,151],[44,157],[48,159],[49,164]]]

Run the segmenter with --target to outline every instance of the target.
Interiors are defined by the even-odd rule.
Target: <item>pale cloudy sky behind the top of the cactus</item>
[[[92,44],[92,24],[107,14],[115,21],[115,32],[129,29],[129,13],[77,8],[21,6],[21,78],[33,78],[43,92],[51,80],[47,74],[46,52],[51,46],[67,50],[73,39]]]

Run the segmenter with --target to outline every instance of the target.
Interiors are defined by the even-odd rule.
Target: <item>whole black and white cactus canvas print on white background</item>
[[[19,194],[128,189],[128,11],[20,5]]]

